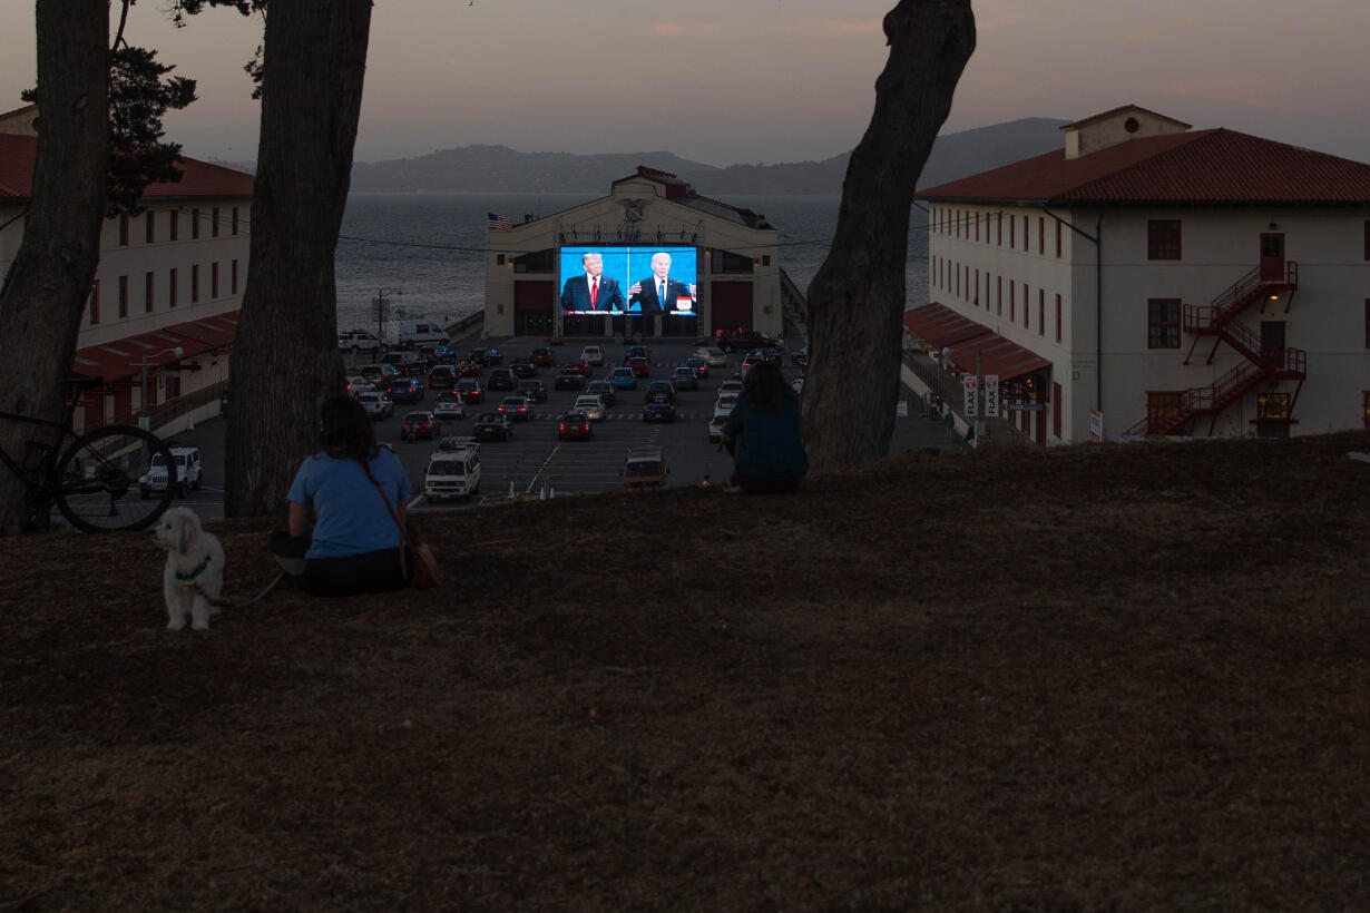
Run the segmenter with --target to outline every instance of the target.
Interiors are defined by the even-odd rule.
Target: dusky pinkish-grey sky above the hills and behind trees
[[[8,8],[12,4],[14,8]],[[111,27],[116,22],[111,15]],[[377,0],[355,157],[474,144],[652,152],[714,166],[849,151],[885,64],[895,0]],[[199,100],[164,120],[200,159],[256,157],[242,64],[262,21],[174,29],[141,0],[132,44]],[[1140,104],[1370,162],[1366,0],[975,0],[977,48],[943,131]],[[0,111],[34,82],[33,0],[7,0]]]

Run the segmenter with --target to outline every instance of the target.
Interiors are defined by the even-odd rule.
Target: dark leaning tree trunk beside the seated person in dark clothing
[[[885,456],[895,430],[908,208],[975,48],[970,0],[900,0],[889,60],[843,182],[833,246],[808,286],[804,437],[815,468]]]

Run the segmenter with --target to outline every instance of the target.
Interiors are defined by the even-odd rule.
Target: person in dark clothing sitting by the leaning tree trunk
[[[747,494],[789,494],[808,472],[800,433],[799,397],[774,361],[758,361],[743,375],[743,394],[723,424],[733,454],[732,485]]]

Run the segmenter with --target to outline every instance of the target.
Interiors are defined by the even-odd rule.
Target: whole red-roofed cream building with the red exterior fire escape
[[[1137,105],[1062,130],[918,192],[911,335],[955,371],[995,359],[1040,443],[1370,427],[1370,164]]]

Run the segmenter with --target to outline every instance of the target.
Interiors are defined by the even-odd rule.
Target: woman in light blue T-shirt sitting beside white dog
[[[315,595],[407,586],[400,527],[390,513],[393,508],[400,523],[408,516],[414,486],[404,467],[375,442],[370,416],[352,397],[325,401],[322,417],[323,450],[306,459],[295,475],[286,494],[289,532],[273,535],[273,553],[296,558],[288,571],[297,571],[295,580]]]

